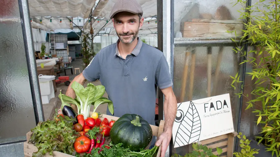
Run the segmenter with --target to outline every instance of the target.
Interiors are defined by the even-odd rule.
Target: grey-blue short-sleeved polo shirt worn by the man
[[[117,41],[117,43],[119,40]],[[155,125],[156,87],[172,86],[165,56],[158,49],[138,43],[123,59],[117,43],[100,50],[83,70],[88,81],[100,80],[114,105],[114,116],[138,114]],[[110,114],[107,108],[107,114]]]

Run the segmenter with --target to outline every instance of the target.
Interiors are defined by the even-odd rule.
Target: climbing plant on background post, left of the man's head
[[[81,53],[83,55],[83,69],[86,68],[87,65],[91,62],[91,56],[94,56],[94,53],[91,49],[91,41],[89,40],[89,33],[84,33],[81,37]]]

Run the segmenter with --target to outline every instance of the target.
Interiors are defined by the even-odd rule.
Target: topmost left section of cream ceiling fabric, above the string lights
[[[29,0],[30,16],[88,18],[96,0]]]

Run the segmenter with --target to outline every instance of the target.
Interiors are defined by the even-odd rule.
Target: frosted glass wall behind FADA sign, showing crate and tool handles
[[[229,93],[234,129],[237,129],[239,99],[232,78],[242,72],[240,54],[230,38],[241,34],[238,18],[242,7],[231,0],[174,1],[174,92],[177,102]],[[242,47],[242,46],[241,46]],[[239,47],[240,48],[240,47]],[[238,87],[237,84],[235,86]],[[185,155],[191,145],[172,150]]]

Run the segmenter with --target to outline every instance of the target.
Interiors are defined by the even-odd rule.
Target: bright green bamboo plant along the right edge
[[[247,109],[257,106],[255,109],[256,123],[261,132],[256,136],[258,144],[266,146],[266,151],[271,151],[272,155],[280,156],[280,0],[270,1],[264,4],[264,0],[251,7],[245,7],[247,1],[238,0],[247,11],[240,11],[240,19],[246,20],[244,33],[240,42],[245,42],[253,46],[250,51],[243,51],[236,47],[236,53],[245,56],[245,60],[240,64],[250,64],[252,69],[249,74],[254,79],[254,96],[246,102]],[[266,2],[267,3],[267,2]],[[248,20],[248,21],[247,21]],[[238,35],[237,35],[238,36]],[[247,36],[247,38],[246,38]],[[236,39],[233,39],[236,41]],[[240,75],[231,76],[234,83],[241,83]],[[241,91],[236,93],[248,98],[248,95]]]

